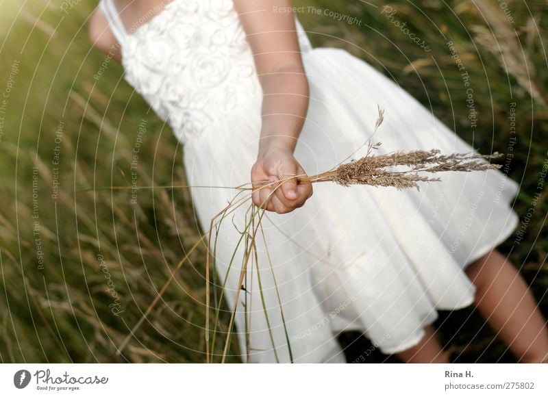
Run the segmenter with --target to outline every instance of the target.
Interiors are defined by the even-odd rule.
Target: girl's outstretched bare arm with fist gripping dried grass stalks
[[[302,175],[293,151],[308,109],[308,79],[295,32],[290,0],[234,0],[247,40],[253,51],[263,92],[259,154],[251,170],[253,185],[288,175]],[[261,205],[270,188],[253,192]],[[312,186],[287,181],[273,194],[266,209],[278,213],[300,207],[312,194]]]

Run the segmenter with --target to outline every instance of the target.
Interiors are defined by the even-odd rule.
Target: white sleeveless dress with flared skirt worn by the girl
[[[258,151],[262,90],[234,5],[173,0],[131,34],[112,0],[100,6],[121,44],[126,81],[184,144],[197,222],[206,232],[236,190],[203,186],[249,183]],[[295,157],[308,175],[329,170],[369,138],[377,105],[385,110],[373,139],[382,142],[379,154],[474,150],[369,64],[342,49],[312,48],[298,21],[297,33],[310,107]],[[360,155],[364,150],[353,157]],[[471,305],[475,287],[463,268],[516,229],[510,203],[519,187],[499,170],[437,176],[442,181],[423,183],[420,192],[318,183],[303,207],[269,212],[266,247],[256,239],[262,297],[250,265],[236,311],[242,360],[345,362],[336,340],[345,330],[362,331],[383,353],[397,353],[421,340],[436,309]],[[218,280],[240,238],[240,208],[216,239]],[[242,249],[225,285],[231,308]]]

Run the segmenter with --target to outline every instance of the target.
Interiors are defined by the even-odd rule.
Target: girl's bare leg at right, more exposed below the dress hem
[[[548,355],[545,320],[521,274],[497,250],[466,268],[477,287],[475,305],[522,362],[540,362]]]

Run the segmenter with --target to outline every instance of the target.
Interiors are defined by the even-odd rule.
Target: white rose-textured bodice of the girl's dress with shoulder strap
[[[125,80],[180,142],[198,138],[260,92],[232,0],[172,0],[131,33],[112,0],[100,7],[121,44]],[[310,51],[296,22],[301,51]]]

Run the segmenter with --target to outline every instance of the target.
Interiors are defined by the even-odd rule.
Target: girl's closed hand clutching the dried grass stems
[[[290,151],[269,149],[261,153],[251,168],[253,203],[278,214],[286,214],[301,207],[312,196],[312,183],[297,184],[295,179],[272,183],[294,175],[306,173]],[[269,183],[271,184],[268,185]],[[260,188],[262,185],[266,186]],[[275,192],[271,195],[273,190]]]

